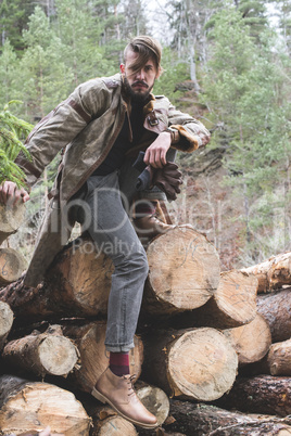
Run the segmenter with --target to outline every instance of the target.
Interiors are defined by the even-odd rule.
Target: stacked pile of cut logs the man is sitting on
[[[130,372],[139,379],[138,395],[159,416],[160,434],[250,434],[254,428],[257,435],[291,434],[287,418],[291,413],[290,328],[277,326],[278,307],[267,317],[261,303],[280,295],[281,310],[289,310],[290,288],[281,288],[291,285],[286,272],[288,255],[281,264],[284,272],[280,275],[276,264],[276,272],[269,274],[276,277],[276,285],[271,279],[267,290],[271,282],[276,291],[257,296],[262,284],[256,273],[220,273],[214,246],[192,229],[169,230],[151,241],[147,254],[150,272]],[[90,396],[109,362],[104,337],[112,271],[110,259],[98,254],[90,241],[77,240],[55,258],[37,288],[25,287],[24,278],[1,288],[0,302],[15,319],[9,336],[3,335],[2,373],[9,369],[13,375],[11,389],[8,375],[0,380],[0,435],[40,431],[47,425],[52,434],[74,436],[111,434],[112,426],[116,435],[156,434],[135,427]],[[283,331],[280,339],[277,330]],[[246,369],[253,371],[255,364],[262,369],[258,375],[246,375]],[[264,373],[267,367],[269,374]],[[43,383],[43,377],[52,384]],[[20,398],[29,392],[40,401],[42,385],[46,398],[52,389],[53,407],[46,414],[37,401],[27,401],[24,419],[18,413]],[[69,400],[61,400],[66,395]],[[251,397],[255,400],[248,405]],[[69,401],[76,403],[66,409]],[[244,413],[231,413],[217,405]],[[52,420],[56,409],[67,416],[63,426]],[[235,433],[227,433],[230,427]]]

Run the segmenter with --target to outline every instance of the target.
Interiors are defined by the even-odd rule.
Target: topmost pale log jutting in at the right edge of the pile
[[[257,277],[258,293],[291,285],[291,252],[273,256],[262,264],[243,268],[242,271]]]

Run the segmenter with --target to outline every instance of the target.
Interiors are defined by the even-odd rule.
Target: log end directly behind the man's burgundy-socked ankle
[[[90,322],[85,325],[67,325],[63,328],[64,335],[76,344],[81,364],[74,369],[68,380],[79,389],[91,393],[96,382],[109,366],[109,354],[105,350],[105,322]],[[129,354],[130,373],[137,380],[143,362],[143,344],[135,336],[135,348]]]

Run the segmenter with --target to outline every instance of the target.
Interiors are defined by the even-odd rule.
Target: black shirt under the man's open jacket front
[[[123,128],[116,138],[105,161],[93,171],[93,176],[106,176],[117,168],[121,168],[125,161],[126,152],[137,145],[141,139],[143,127],[143,103],[132,103],[130,113],[130,126],[132,130],[132,142],[130,142],[130,129],[128,117],[125,117]]]

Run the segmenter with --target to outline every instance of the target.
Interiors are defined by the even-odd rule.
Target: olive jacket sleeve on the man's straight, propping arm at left
[[[68,99],[35,126],[25,142],[31,161],[23,153],[15,159],[25,172],[27,189],[37,181],[58,152],[104,111],[106,99],[109,95],[102,82],[90,80],[76,88]]]

